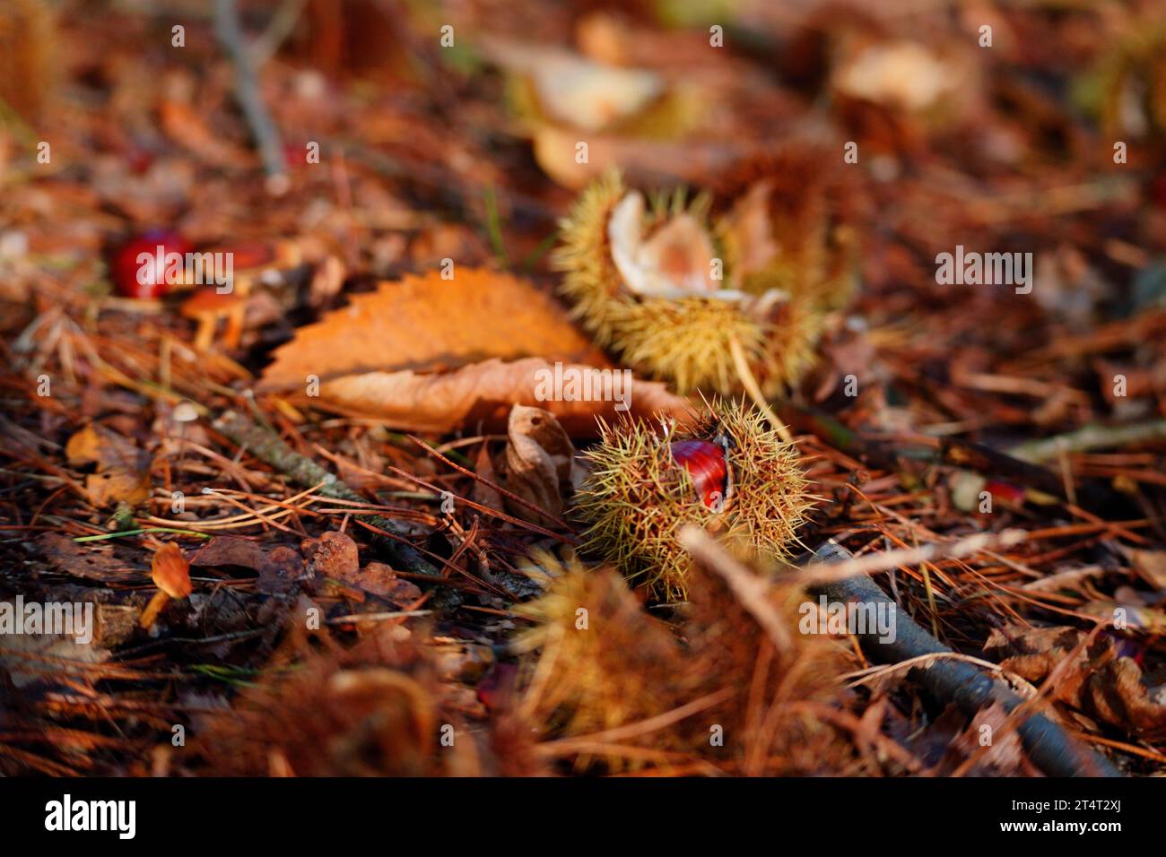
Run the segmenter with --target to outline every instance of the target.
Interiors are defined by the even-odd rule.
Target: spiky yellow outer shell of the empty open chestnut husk
[[[668,381],[686,394],[743,389],[733,340],[766,395],[779,395],[795,385],[813,360],[824,311],[847,300],[842,293],[849,272],[828,269],[824,252],[813,265],[803,258],[807,254],[782,257],[740,283],[756,295],[771,288],[789,295],[765,318],[737,303],[709,297],[638,297],[624,288],[607,238],[607,219],[626,194],[617,173],[586,188],[562,223],[562,245],[553,258],[564,272],[561,291],[573,304],[573,315],[596,342],[637,372]],[[697,198],[687,211],[704,219],[707,205],[707,198]],[[653,217],[684,210],[683,196],[675,195],[667,205],[658,201]],[[739,255],[736,237],[728,229],[710,233],[723,247],[726,271],[731,271],[731,260]]]

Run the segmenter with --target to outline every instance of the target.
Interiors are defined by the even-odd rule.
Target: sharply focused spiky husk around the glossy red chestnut
[[[626,422],[604,427],[600,442],[584,457],[591,473],[577,494],[588,525],[584,547],[653,595],[686,596],[690,560],[677,534],[686,524],[715,532],[732,550],[772,561],[788,556],[812,498],[792,444],[768,428],[765,417],[733,401],[715,401],[696,433],[731,442],[733,490],[719,511],[696,497],[688,472],[675,464],[669,443],[649,427]]]

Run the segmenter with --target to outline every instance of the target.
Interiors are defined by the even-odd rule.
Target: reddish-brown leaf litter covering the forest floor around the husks
[[[871,579],[1121,772],[1161,774],[1152,3],[998,10],[992,51],[918,9],[729,12],[721,48],[675,3],[471,5],[442,12],[444,52],[419,9],[310,0],[258,73],[278,141],[210,21],[148,68],[125,33],[163,44],[160,20],[63,6],[0,22],[0,606],[97,627],[0,635],[0,772],[1045,773],[1014,711],[893,665],[854,681],[876,668],[857,638],[791,633],[816,602],[795,575],[694,562],[677,603],[584,549],[600,424],[663,437],[707,406],[653,377],[675,338],[634,352],[627,410],[538,393],[628,368],[549,252],[614,168],[641,202],[704,191],[723,226],[673,210],[641,233],[645,206],[602,232],[620,264],[589,271],[620,272],[620,305],[676,272],[716,291],[716,258],[786,324],[799,278],[856,266],[852,300],[810,298],[786,388],[716,358],[791,427],[799,540],[937,546]],[[267,13],[240,7],[257,38]],[[807,154],[851,141],[841,173]],[[120,295],[117,250],[161,226],[232,254],[230,300]],[[941,285],[957,244],[1034,251],[1034,294]],[[442,724],[471,739],[440,750]]]

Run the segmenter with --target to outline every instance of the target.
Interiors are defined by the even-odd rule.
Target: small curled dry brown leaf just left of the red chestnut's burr
[[[524,405],[511,409],[506,435],[506,487],[557,518],[585,475],[571,438],[554,414]],[[527,520],[541,519],[524,506],[512,511]]]

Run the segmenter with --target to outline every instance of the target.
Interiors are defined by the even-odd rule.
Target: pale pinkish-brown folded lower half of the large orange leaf
[[[625,415],[616,410],[614,401],[540,401],[540,371],[553,372],[554,366],[528,358],[514,363],[485,360],[443,374],[365,372],[322,384],[319,398],[307,401],[410,431],[436,433],[476,429],[479,423],[485,431],[501,431],[514,405],[546,407],[571,437],[596,436],[596,417],[613,422]],[[588,372],[593,367],[564,366],[563,372],[568,371]],[[693,419],[688,400],[669,393],[662,384],[633,380],[626,392],[626,415],[652,419],[662,413],[680,426]]]

